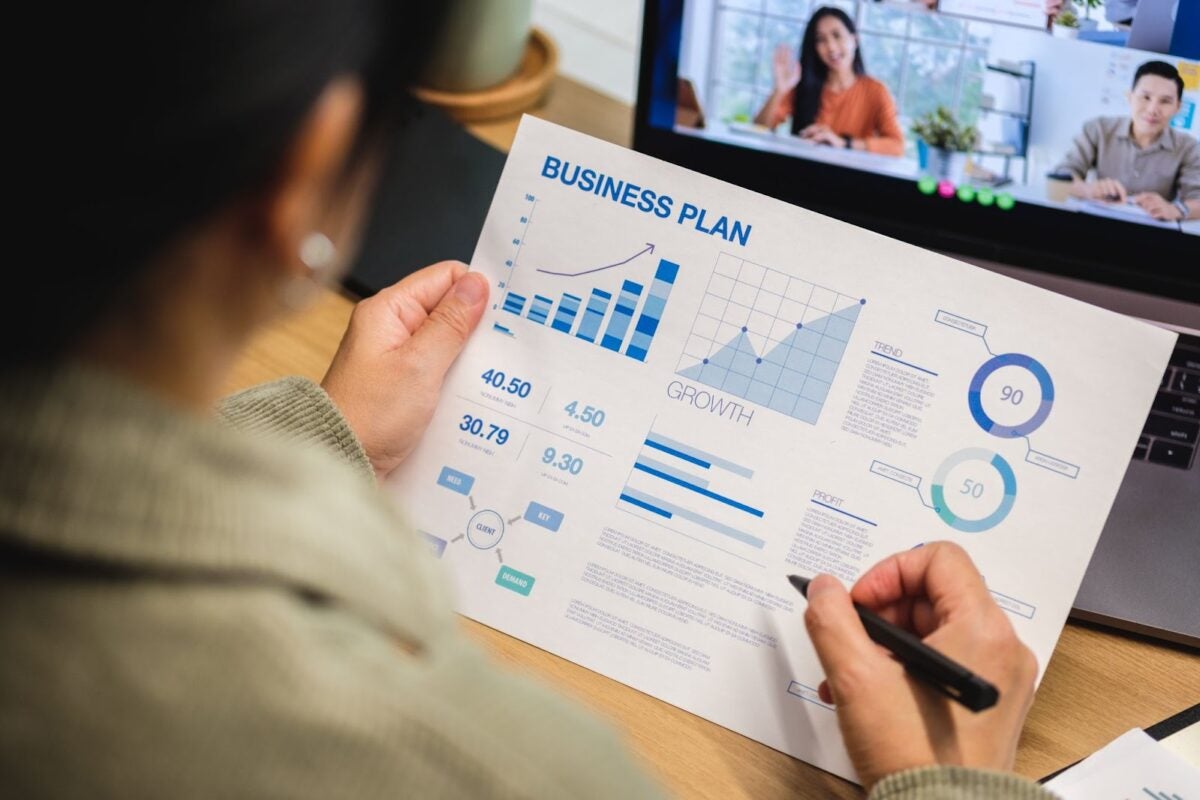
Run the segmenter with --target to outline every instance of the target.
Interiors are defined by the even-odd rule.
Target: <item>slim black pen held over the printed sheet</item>
[[[809,578],[790,575],[787,579],[808,600]],[[1000,699],[1000,691],[995,686],[959,662],[947,658],[908,631],[896,627],[858,603],[854,603],[854,610],[858,612],[858,619],[863,620],[866,636],[890,650],[913,678],[925,681],[972,711],[990,709]]]

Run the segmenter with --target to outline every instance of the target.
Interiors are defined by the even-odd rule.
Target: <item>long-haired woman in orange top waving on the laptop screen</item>
[[[792,118],[792,133],[814,144],[904,155],[904,131],[888,88],[866,74],[854,22],[824,6],[809,19],[799,61],[775,49],[775,89],[755,116],[769,128]]]

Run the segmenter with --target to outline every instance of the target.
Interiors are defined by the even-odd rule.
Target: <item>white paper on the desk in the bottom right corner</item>
[[[1063,800],[1196,800],[1200,770],[1134,728],[1045,787]]]

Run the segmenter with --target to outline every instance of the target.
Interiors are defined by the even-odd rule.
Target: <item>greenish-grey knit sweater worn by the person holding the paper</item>
[[[0,786],[36,798],[640,798],[617,736],[457,632],[325,393],[188,416],[0,378]],[[872,798],[1048,798],[929,769]]]

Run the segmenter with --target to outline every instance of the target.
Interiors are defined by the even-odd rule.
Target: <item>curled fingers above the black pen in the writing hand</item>
[[[952,542],[934,542],[880,561],[858,579],[851,595],[872,609],[926,600],[925,608],[912,609],[912,622],[919,621],[922,627],[936,627],[942,606],[954,608],[991,600],[971,557]],[[917,614],[920,619],[916,619]]]

